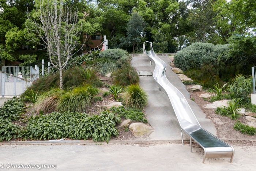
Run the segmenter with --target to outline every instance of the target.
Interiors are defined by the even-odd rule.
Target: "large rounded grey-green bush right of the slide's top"
[[[219,58],[224,58],[230,45],[213,45],[212,43],[193,43],[178,52],[174,64],[186,71],[190,68],[199,69],[202,65],[217,65]]]

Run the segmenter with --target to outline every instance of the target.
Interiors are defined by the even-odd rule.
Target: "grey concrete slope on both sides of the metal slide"
[[[169,57],[158,57],[166,62],[167,79],[185,96],[201,126],[215,135],[217,131],[214,123],[210,119],[206,119],[206,114],[203,113],[195,102],[190,100],[190,95],[186,86],[181,82],[176,73],[172,71],[172,67],[168,64],[168,62],[171,62]],[[155,69],[155,65],[150,65],[150,61],[146,56],[133,57],[131,63],[138,69],[138,71],[151,71],[153,73]],[[163,92],[158,91],[158,86],[155,83],[153,76],[140,77],[140,86],[142,86],[149,95],[149,103],[145,110],[148,122],[155,130],[150,137],[157,140],[181,140],[181,128],[170,100]],[[186,138],[189,138],[189,136],[184,133],[184,139]]]

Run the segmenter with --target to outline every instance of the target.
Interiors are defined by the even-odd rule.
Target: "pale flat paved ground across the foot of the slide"
[[[144,147],[142,147],[142,145]],[[1,145],[0,170],[39,170],[6,168],[10,164],[56,164],[40,170],[89,171],[252,171],[256,168],[256,148],[234,146],[229,158],[206,159],[203,152],[182,144],[107,144],[107,145]],[[8,164],[9,163],[9,164]]]

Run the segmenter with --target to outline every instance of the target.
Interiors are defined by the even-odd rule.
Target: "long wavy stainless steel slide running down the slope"
[[[144,53],[147,54],[150,64],[152,62],[155,64],[153,77],[158,84],[158,90],[165,92],[169,97],[180,123],[182,144],[184,145],[182,136],[182,130],[184,130],[190,136],[190,145],[192,138],[204,149],[203,163],[206,158],[216,157],[230,157],[231,162],[235,153],[234,148],[202,128],[184,95],[167,80],[165,75],[166,63],[156,56],[151,42],[148,42],[151,50],[146,51],[145,43],[143,43]]]

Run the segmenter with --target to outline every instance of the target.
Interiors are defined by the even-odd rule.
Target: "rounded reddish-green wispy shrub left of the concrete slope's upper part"
[[[139,83],[139,75],[134,67],[128,62],[122,65],[115,73],[113,73],[114,83],[120,86],[128,86],[130,84]]]

